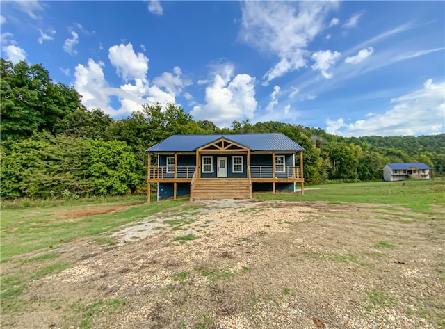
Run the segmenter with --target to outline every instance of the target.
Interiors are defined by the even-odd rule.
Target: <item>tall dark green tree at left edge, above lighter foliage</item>
[[[83,108],[74,88],[53,83],[42,65],[0,58],[1,139],[26,138],[35,132],[53,132],[67,113]]]

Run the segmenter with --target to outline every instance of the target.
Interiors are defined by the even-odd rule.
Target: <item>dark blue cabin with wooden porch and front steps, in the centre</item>
[[[248,199],[253,191],[294,192],[295,183],[304,194],[304,149],[284,134],[174,135],[146,151],[158,200]]]

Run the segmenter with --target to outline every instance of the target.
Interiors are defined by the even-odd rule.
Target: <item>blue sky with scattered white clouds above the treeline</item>
[[[88,109],[174,102],[195,120],[339,136],[439,134],[444,1],[1,1],[1,56]]]

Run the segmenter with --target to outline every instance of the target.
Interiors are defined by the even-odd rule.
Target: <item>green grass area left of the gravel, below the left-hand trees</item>
[[[25,252],[57,248],[63,242],[111,232],[115,227],[176,207],[184,202],[186,200],[140,204],[120,212],[81,218],[67,218],[62,215],[66,211],[81,209],[79,206],[3,210],[0,260],[1,263],[8,262],[11,257]]]

